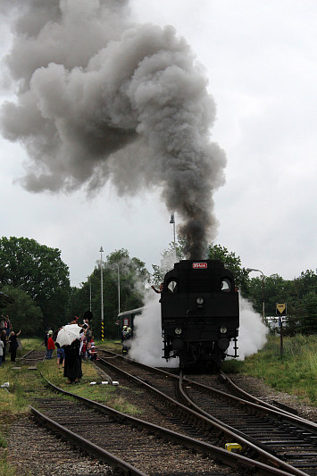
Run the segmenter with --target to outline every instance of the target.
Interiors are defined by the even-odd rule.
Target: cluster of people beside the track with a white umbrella
[[[94,336],[92,335],[90,327],[91,319],[92,313],[90,311],[84,314],[82,324],[79,323],[79,318],[75,316],[69,324],[79,326],[79,338],[74,338],[69,345],[63,345],[62,347],[58,342],[56,342],[56,339],[54,340],[54,338],[58,336],[58,332],[56,333],[56,336],[54,336],[53,330],[46,331],[46,359],[53,358],[54,348],[57,347],[57,366],[59,369],[62,366],[63,376],[67,378],[68,384],[71,384],[72,382],[79,383],[79,380],[82,377],[82,359],[97,359]]]

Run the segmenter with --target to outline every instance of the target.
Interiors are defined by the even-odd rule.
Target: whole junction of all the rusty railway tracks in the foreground
[[[98,367],[110,381],[120,380],[120,387],[147,401],[146,419],[49,382],[47,396],[35,397],[31,412],[76,447],[110,463],[116,474],[316,474],[316,423],[246,393],[238,397],[241,391],[224,374],[221,380],[209,376],[206,384],[198,381],[206,376],[186,378],[110,352],[103,352]]]

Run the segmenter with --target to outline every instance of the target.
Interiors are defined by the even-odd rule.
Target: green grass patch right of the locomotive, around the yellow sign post
[[[241,372],[262,379],[272,388],[317,405],[317,336],[283,338],[269,336],[266,345],[243,362],[228,361],[224,372]]]

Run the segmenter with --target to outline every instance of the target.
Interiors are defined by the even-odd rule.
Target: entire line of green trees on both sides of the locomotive
[[[58,329],[74,315],[91,310],[93,330],[100,337],[101,265],[103,272],[104,335],[119,336],[116,325],[119,311],[141,307],[145,289],[150,282],[157,285],[171,269],[175,254],[185,259],[184,241],[178,238],[163,251],[160,265],[153,265],[152,274],[126,249],[107,255],[79,288],[71,287],[70,271],[57,248],[40,245],[30,238],[0,239],[0,290],[11,299],[0,299],[0,313],[9,315],[14,329],[24,336],[40,336],[47,327]],[[276,314],[277,303],[288,305],[288,333],[317,333],[317,274],[303,271],[294,280],[284,280],[278,274],[250,278],[239,256],[224,246],[211,244],[208,258],[220,259],[235,276],[241,294],[265,315]],[[119,270],[119,275],[118,275]],[[120,293],[119,291],[120,287]]]

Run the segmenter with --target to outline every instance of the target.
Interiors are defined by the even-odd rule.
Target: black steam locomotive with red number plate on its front
[[[237,354],[238,290],[221,261],[184,260],[165,274],[161,292],[164,355],[181,369],[220,369],[229,343]]]

